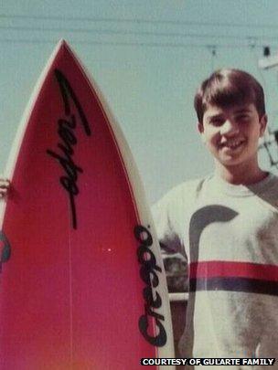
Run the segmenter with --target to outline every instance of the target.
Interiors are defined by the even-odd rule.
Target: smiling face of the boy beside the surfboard
[[[229,108],[209,105],[198,130],[214,158],[230,167],[257,163],[258,142],[266,122],[266,116],[260,119],[252,103]]]

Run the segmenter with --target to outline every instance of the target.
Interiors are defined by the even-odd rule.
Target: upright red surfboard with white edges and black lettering
[[[165,271],[133,156],[64,40],[5,175],[0,368],[130,370],[141,358],[174,357]]]

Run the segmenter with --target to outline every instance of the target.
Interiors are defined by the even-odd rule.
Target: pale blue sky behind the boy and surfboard
[[[213,171],[193,99],[215,69],[244,69],[265,90],[278,129],[276,0],[0,0],[0,172],[52,50],[69,42],[96,80],[134,154],[151,203],[182,181]],[[272,145],[273,157],[278,158]],[[261,163],[270,168],[265,150]],[[273,167],[273,172],[276,169]]]

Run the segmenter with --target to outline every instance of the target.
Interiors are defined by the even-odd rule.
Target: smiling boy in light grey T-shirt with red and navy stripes
[[[278,357],[278,178],[258,164],[267,123],[262,86],[246,72],[221,69],[201,84],[195,109],[215,172],[154,206],[162,245],[187,255],[180,354]]]

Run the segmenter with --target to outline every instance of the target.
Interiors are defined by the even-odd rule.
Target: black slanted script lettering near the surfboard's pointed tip
[[[65,172],[65,174],[60,176],[59,182],[69,194],[72,227],[77,229],[75,196],[78,196],[80,192],[78,187],[79,174],[83,173],[83,169],[80,165],[75,164],[73,159],[73,147],[78,144],[78,138],[74,132],[78,121],[77,118],[79,118],[79,122],[87,136],[91,136],[91,129],[81,107],[80,100],[69,84],[69,79],[67,79],[59,69],[55,69],[54,73],[59,83],[59,90],[64,103],[64,111],[62,117],[58,120],[59,143],[57,147],[59,153],[50,149],[47,150],[47,153],[58,160]],[[77,111],[78,117],[76,117],[74,111]]]

